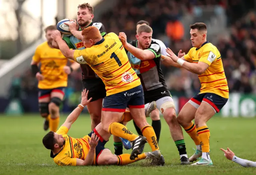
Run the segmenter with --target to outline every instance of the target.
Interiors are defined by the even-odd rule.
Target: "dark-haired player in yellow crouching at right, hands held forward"
[[[210,130],[206,122],[219,112],[228,101],[228,83],[218,49],[206,39],[206,24],[195,23],[190,26],[192,48],[181,57],[166,49],[173,65],[198,74],[200,93],[191,98],[178,115],[178,122],[194,140],[196,153],[189,160],[198,162],[192,165],[213,165],[210,159]],[[192,120],[195,119],[195,124]]]

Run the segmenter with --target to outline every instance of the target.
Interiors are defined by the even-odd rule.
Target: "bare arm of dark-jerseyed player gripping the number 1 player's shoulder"
[[[130,53],[132,53],[132,55],[134,55],[138,59],[148,60],[148,59],[154,59],[156,57],[156,55],[149,49],[142,50],[129,44],[127,42],[126,34],[124,32],[120,32],[118,37],[122,42],[122,44],[124,45],[124,48]]]

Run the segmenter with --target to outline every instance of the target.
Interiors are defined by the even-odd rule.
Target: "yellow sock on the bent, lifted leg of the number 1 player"
[[[113,122],[112,124],[110,124],[108,129],[110,134],[113,134],[114,136],[118,136],[120,138],[127,139],[129,141],[134,141],[138,137],[138,135],[130,132],[126,128],[126,126],[117,122]]]

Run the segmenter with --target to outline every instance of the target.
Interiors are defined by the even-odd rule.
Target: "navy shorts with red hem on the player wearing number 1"
[[[144,108],[142,85],[104,98],[102,111],[125,112],[126,108]]]

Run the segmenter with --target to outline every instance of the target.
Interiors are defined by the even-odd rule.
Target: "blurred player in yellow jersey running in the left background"
[[[66,66],[68,59],[60,50],[52,47],[51,35],[54,30],[56,26],[48,26],[45,29],[47,41],[36,48],[31,68],[38,79],[39,111],[45,118],[44,130],[48,130],[50,126],[50,130],[56,132],[60,121],[59,106],[64,97],[64,88],[68,85],[68,74],[72,69],[77,69],[79,64],[73,63],[70,67]]]

